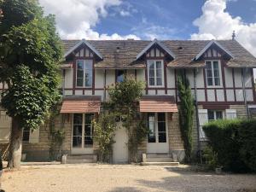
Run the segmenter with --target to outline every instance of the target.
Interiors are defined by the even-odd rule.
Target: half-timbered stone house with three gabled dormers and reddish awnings
[[[193,147],[206,142],[201,127],[214,119],[246,118],[255,108],[253,67],[256,58],[236,40],[63,40],[61,113],[55,126],[65,131],[63,154],[95,154],[91,119],[108,100],[104,88],[125,75],[146,82],[140,112],[147,116],[150,133],[140,154],[166,154],[183,160],[183,140],[177,109],[177,73],[183,71],[195,97]],[[5,84],[0,85],[4,90]],[[122,119],[118,119],[121,123]],[[2,143],[9,139],[9,118],[1,112]],[[4,123],[3,123],[4,122]],[[115,134],[113,162],[128,160],[124,129]],[[49,127],[23,131],[27,160],[49,158]],[[141,155],[143,156],[143,155]]]

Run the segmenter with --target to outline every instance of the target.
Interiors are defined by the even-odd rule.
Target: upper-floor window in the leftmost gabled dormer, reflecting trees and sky
[[[77,61],[77,86],[91,87],[92,86],[92,61],[78,60]]]

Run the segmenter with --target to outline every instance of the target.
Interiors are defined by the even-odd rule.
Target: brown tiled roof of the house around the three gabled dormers
[[[80,40],[63,40],[67,52]],[[137,60],[137,55],[152,41],[148,40],[88,40],[101,55],[96,61],[96,68],[143,68],[145,61]],[[195,61],[195,56],[204,49],[210,40],[164,40],[160,44],[172,50],[175,59],[167,67],[205,67],[204,61]],[[227,62],[228,67],[256,67],[256,58],[243,48],[236,40],[216,40],[221,47],[230,52],[233,59]],[[119,47],[119,52],[116,51]],[[182,48],[182,49],[179,49]]]

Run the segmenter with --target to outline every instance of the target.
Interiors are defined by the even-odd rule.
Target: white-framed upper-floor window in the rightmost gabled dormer
[[[218,61],[206,61],[207,85],[220,86],[220,65]]]

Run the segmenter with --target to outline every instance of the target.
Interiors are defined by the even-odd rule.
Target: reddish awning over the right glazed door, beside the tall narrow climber
[[[173,96],[143,96],[140,101],[140,112],[177,112]]]

